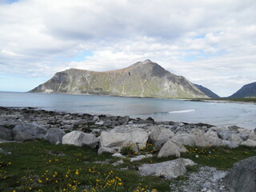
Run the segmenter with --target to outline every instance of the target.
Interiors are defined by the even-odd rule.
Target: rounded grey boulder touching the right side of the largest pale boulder
[[[162,126],[152,126],[150,127],[150,139],[154,142],[159,140],[169,140],[174,136],[171,130],[167,130]]]

